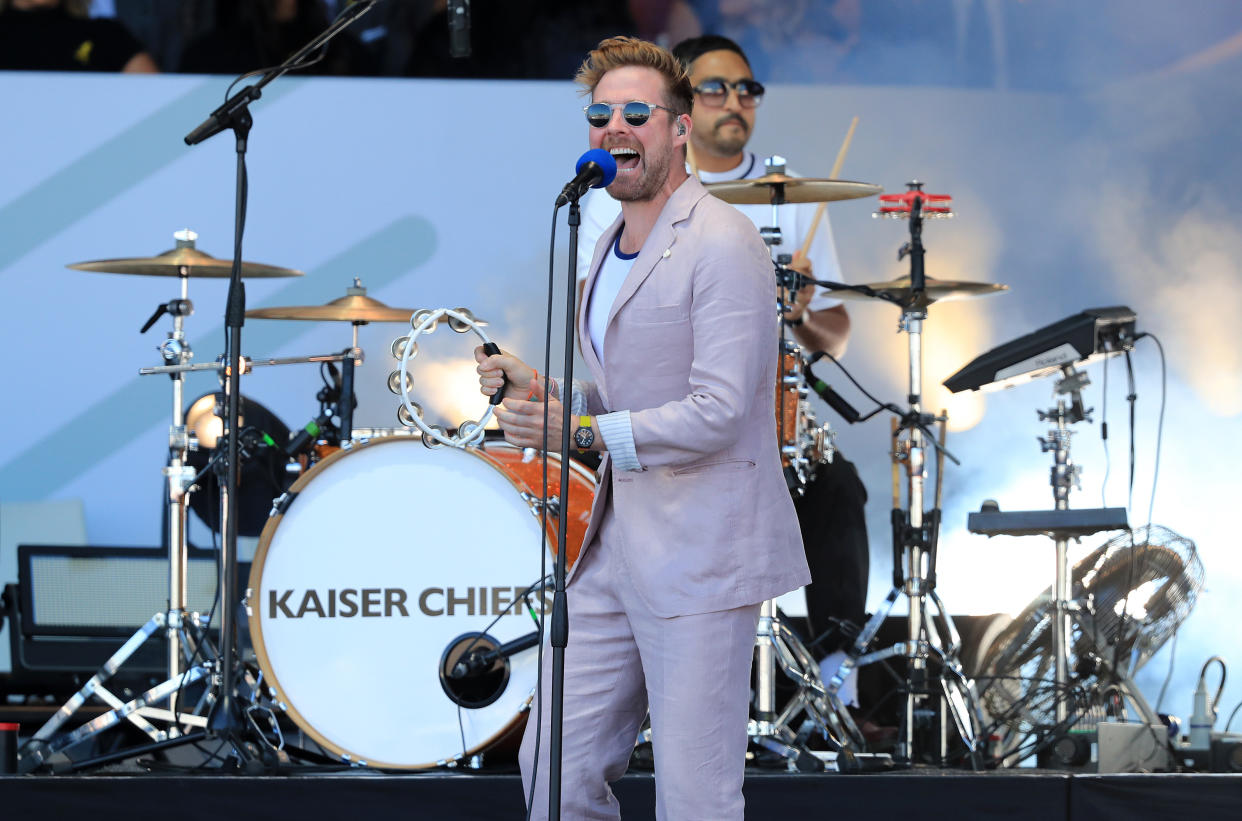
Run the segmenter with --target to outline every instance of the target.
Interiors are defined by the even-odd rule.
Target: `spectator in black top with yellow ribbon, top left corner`
[[[91,17],[89,0],[0,0],[0,68],[158,72],[122,24]]]

